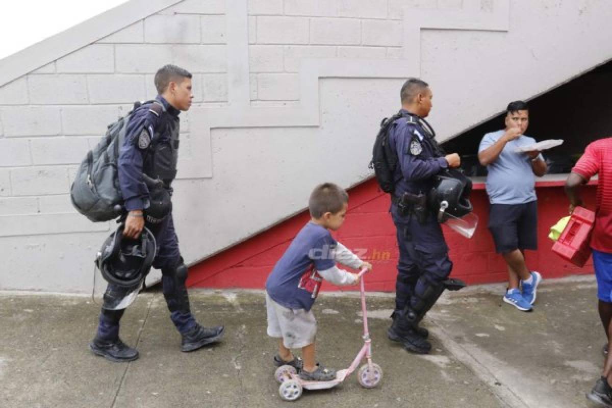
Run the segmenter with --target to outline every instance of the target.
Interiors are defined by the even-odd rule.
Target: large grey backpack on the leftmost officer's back
[[[94,149],[89,150],[76,171],[70,188],[70,199],[75,209],[94,223],[110,221],[123,211],[123,196],[119,186],[119,149],[123,146],[127,124],[133,112],[156,100],[136,102],[126,117],[108,125],[106,135]],[[165,108],[162,105],[162,110]]]

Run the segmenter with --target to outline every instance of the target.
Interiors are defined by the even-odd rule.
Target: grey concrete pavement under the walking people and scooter
[[[584,398],[602,366],[605,335],[592,276],[544,281],[534,313],[501,301],[502,285],[445,292],[428,314],[433,351],[414,355],[386,338],[393,297],[368,294],[378,388],[355,374],[337,388],[304,391],[300,407],[592,407]],[[111,363],[89,352],[99,305],[91,297],[0,292],[0,407],[277,407],[275,342],[261,292],[190,291],[222,343],[179,351],[163,295],[139,295],[121,336],[140,359]],[[358,295],[319,297],[318,359],[346,368],[362,345]]]

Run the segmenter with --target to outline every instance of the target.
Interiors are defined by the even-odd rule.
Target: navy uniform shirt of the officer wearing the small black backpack
[[[401,112],[408,114],[405,109]],[[398,158],[395,195],[427,193],[433,187],[433,176],[449,166],[441,153],[436,152],[433,135],[415,115],[397,119],[389,130],[389,139]]]

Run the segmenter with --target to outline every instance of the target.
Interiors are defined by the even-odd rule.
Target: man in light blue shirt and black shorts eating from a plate
[[[524,135],[529,125],[525,102],[510,102],[504,123],[506,128],[487,133],[478,149],[480,164],[488,171],[488,227],[497,253],[508,265],[504,302],[521,311],[532,311],[542,276],[529,271],[524,250],[537,249],[535,176],[546,174],[547,165],[540,152],[517,152],[518,147],[535,143],[534,138]]]

